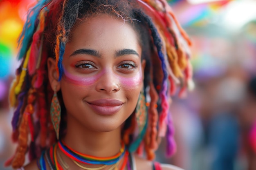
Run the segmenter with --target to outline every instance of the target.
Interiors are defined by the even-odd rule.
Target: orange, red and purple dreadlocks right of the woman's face
[[[141,3],[141,7],[145,10],[145,13],[153,19],[152,22],[150,18],[143,14],[138,15],[140,18],[137,18],[138,20],[145,21],[148,25],[162,68],[162,76],[159,76],[161,78],[155,81],[157,83],[153,82],[155,84],[155,88],[159,90],[159,94],[157,95],[157,93],[155,93],[155,88],[150,86],[150,98],[152,103],[149,105],[149,126],[145,137],[146,141],[141,143],[141,145],[145,145],[144,147],[147,152],[148,159],[154,159],[153,153],[158,146],[155,132],[158,116],[155,114],[155,101],[153,101],[153,99],[159,97],[158,103],[160,103],[160,106],[157,107],[160,111],[158,136],[164,137],[167,132],[166,154],[168,156],[173,155],[175,152],[175,142],[173,140],[173,124],[169,113],[169,99],[170,95],[174,92],[170,92],[168,89],[170,89],[170,86],[171,89],[175,89],[175,83],[173,81],[176,83],[180,82],[183,87],[181,87],[179,95],[182,96],[185,87],[192,81],[191,66],[188,62],[188,45],[190,45],[191,42],[177,23],[177,20],[166,1],[138,0],[138,2]],[[179,38],[177,38],[178,36]],[[158,71],[153,69],[153,72],[157,73]],[[153,75],[153,77],[157,76]]]

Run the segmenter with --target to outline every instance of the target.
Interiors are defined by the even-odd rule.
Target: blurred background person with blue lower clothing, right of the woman
[[[238,106],[244,95],[244,80],[229,68],[218,80],[213,100],[213,116],[209,121],[209,147],[212,152],[211,170],[235,170],[240,150]]]

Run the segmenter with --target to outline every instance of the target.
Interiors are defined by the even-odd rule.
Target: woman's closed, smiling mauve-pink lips
[[[100,115],[115,114],[124,104],[124,102],[115,99],[99,99],[87,103],[96,113]]]

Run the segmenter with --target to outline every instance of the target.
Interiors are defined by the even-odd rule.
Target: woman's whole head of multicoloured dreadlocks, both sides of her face
[[[145,95],[148,107],[146,129],[141,136],[135,136],[137,125],[133,113],[122,132],[125,144],[130,151],[137,150],[138,153],[144,148],[147,158],[154,159],[160,138],[167,135],[167,155],[175,152],[169,105],[176,86],[180,86],[179,96],[183,96],[186,87],[191,85],[191,42],[166,0],[40,0],[29,11],[19,39],[18,59],[22,61],[9,94],[11,106],[16,107],[12,137],[18,142],[18,148],[6,165],[20,168],[27,150],[29,158],[34,159],[56,142],[49,114],[53,91],[47,77],[47,57],[55,57],[61,80],[65,45],[74,24],[95,13],[117,15],[137,26],[135,29],[145,27],[146,31],[141,32],[147,32],[150,37],[147,40],[150,47],[145,52],[148,54],[143,54],[149,70],[144,76],[148,77],[144,81],[144,92],[148,94]]]

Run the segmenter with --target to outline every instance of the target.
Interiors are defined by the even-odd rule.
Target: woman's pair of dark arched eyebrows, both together
[[[96,50],[92,50],[92,49],[78,49],[76,51],[74,51],[71,56],[75,56],[75,55],[79,55],[79,54],[88,54],[88,55],[92,55],[98,58],[101,58],[101,55],[98,51]],[[137,55],[139,57],[139,54],[132,49],[121,49],[121,50],[117,50],[115,52],[115,58],[123,56],[123,55]]]

